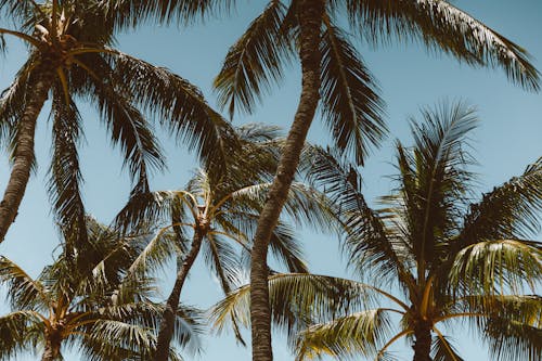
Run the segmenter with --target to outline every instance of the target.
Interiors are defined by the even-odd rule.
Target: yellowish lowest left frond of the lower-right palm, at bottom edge
[[[328,323],[315,324],[302,331],[296,349],[296,360],[320,354],[376,356],[391,334],[389,312],[373,309],[340,317]]]

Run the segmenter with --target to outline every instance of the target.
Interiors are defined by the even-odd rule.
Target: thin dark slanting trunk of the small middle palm
[[[169,358],[169,343],[173,336],[175,319],[179,306],[179,299],[181,297],[182,286],[184,285],[184,281],[186,281],[190,269],[192,268],[192,265],[194,265],[197,254],[199,253],[203,237],[204,235],[196,231],[190,252],[184,258],[181,268],[177,272],[177,280],[175,281],[173,289],[171,289],[171,293],[169,294],[166,302],[166,309],[162,315],[158,340],[156,343],[155,361],[167,361]]]

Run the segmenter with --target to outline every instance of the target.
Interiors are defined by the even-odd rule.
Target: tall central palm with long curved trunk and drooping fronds
[[[250,258],[253,360],[272,360],[267,249],[320,100],[336,146],[353,154],[358,164],[386,133],[373,78],[337,25],[338,14],[345,12],[353,31],[369,42],[421,39],[431,50],[473,65],[501,66],[513,81],[539,88],[539,73],[520,47],[447,1],[292,0],[289,5],[269,1],[230,49],[215,81],[219,100],[231,114],[235,108],[251,112],[263,89],[282,77],[283,65],[294,52],[301,63],[298,108]]]

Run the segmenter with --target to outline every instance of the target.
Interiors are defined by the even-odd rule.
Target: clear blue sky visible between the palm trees
[[[211,104],[215,94],[211,82],[218,73],[230,44],[243,33],[247,24],[263,8],[263,1],[237,1],[237,11],[228,20],[210,20],[205,25],[189,29],[176,27],[145,26],[134,33],[119,36],[119,48],[132,55],[159,66],[166,66],[201,87]],[[540,0],[457,0],[454,3],[485,22],[487,25],[525,47],[533,57],[534,65],[542,69],[542,1]],[[1,24],[0,26],[4,26]],[[479,192],[488,191],[522,172],[525,167],[542,155],[542,94],[529,93],[507,81],[500,69],[473,69],[457,64],[444,55],[428,54],[416,44],[393,44],[369,49],[359,44],[366,64],[378,79],[382,95],[387,102],[389,139],[375,151],[361,170],[364,190],[369,199],[388,193],[390,180],[384,176],[393,172],[392,140],[410,142],[406,117],[417,115],[420,106],[431,105],[443,99],[463,99],[478,107],[480,127],[473,133],[475,156],[479,167]],[[24,47],[11,43],[8,56],[0,60],[0,88],[10,83],[17,66],[26,56]],[[237,116],[235,125],[247,121],[264,121],[287,128],[297,105],[300,75],[297,65],[286,73],[280,87],[273,89],[254,116]],[[102,222],[109,222],[127,201],[130,183],[126,171],[121,171],[119,150],[112,149],[103,124],[95,112],[85,105],[86,142],[80,146],[80,158],[85,177],[85,202],[90,214]],[[28,184],[25,198],[15,223],[7,240],[0,244],[0,254],[16,261],[30,274],[37,275],[51,261],[57,245],[57,234],[52,223],[48,202],[47,170],[50,160],[49,107],[39,118],[36,152],[38,172]],[[157,131],[168,155],[169,170],[155,175],[154,190],[177,189],[184,185],[196,163],[182,144],[164,132]],[[327,131],[314,121],[309,134],[311,141],[325,144]],[[7,156],[0,157],[0,190],[3,192],[9,166]],[[348,275],[346,261],[338,255],[335,237],[299,230],[307,249],[310,268],[317,273]],[[336,256],[335,256],[336,255]],[[167,279],[167,278],[166,278]],[[169,283],[163,285],[163,294],[169,293]],[[540,291],[539,291],[540,293]],[[192,271],[191,281],[183,289],[182,299],[207,307],[220,297],[218,285],[207,275],[201,265]],[[7,312],[0,302],[0,313]],[[490,357],[481,344],[472,343],[472,334],[461,325],[449,332],[457,340],[459,350],[465,360],[489,361]],[[204,339],[205,352],[196,357],[205,361],[249,360],[249,350],[235,346],[233,336]],[[401,344],[396,349],[401,360],[412,359],[410,347]],[[276,338],[275,359],[293,360],[284,339]],[[66,360],[78,360],[66,352]],[[35,357],[18,359],[34,360]],[[192,359],[192,357],[186,357]]]

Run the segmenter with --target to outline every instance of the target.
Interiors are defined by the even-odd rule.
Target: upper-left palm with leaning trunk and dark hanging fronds
[[[76,100],[100,112],[122,156],[134,186],[149,190],[147,172],[163,169],[164,158],[145,116],[160,119],[205,159],[221,156],[228,123],[205,102],[199,90],[163,67],[155,67],[113,48],[117,24],[93,0],[37,3],[0,2],[16,30],[0,28],[29,47],[28,59],[0,99],[0,141],[13,164],[0,203],[0,242],[14,221],[34,165],[37,118],[51,95],[53,159],[49,190],[59,222],[85,236],[77,143],[82,119]],[[5,51],[5,48],[2,47]],[[75,234],[76,231],[72,232]]]

